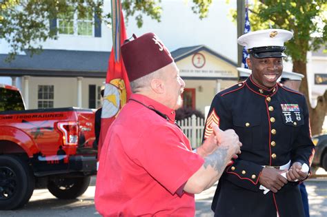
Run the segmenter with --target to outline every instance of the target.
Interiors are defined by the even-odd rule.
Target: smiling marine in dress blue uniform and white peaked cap
[[[204,132],[207,138],[215,122],[221,130],[235,130],[243,144],[219,180],[212,201],[215,216],[304,216],[299,182],[290,174],[313,158],[308,107],[303,94],[277,82],[286,56],[284,41],[292,36],[286,30],[260,30],[238,39],[253,58],[248,59],[252,74],[215,96]],[[281,176],[286,171],[292,181]],[[267,172],[272,175],[268,182]],[[264,194],[261,185],[271,190]]]

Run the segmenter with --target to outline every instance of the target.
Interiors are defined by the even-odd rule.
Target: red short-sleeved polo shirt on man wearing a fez
[[[174,110],[140,94],[131,99],[144,105],[128,101],[108,130],[97,173],[97,210],[103,216],[194,216],[194,195],[176,191],[204,159],[174,124]]]

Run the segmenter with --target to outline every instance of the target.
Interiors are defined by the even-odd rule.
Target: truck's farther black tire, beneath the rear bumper
[[[53,178],[48,182],[49,192],[59,199],[75,199],[84,194],[90,185],[90,176]]]

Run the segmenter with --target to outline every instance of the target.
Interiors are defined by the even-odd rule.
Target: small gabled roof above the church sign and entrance
[[[197,45],[197,46],[179,48],[179,49],[171,52],[171,54],[172,54],[172,57],[175,59],[175,62],[177,62],[181,59],[186,58],[186,56],[190,56],[190,55],[200,52],[202,50],[204,50],[214,56],[217,56],[217,58],[222,59],[223,61],[226,61],[227,63],[230,63],[230,65],[237,67],[237,63],[231,61],[226,56],[222,56],[221,54],[218,54],[217,52],[207,48],[206,45]]]

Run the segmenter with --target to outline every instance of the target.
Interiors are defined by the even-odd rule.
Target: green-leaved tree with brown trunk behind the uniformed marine
[[[308,51],[327,48],[326,0],[254,0],[248,7],[252,31],[281,28],[294,33],[293,39],[286,43],[286,54],[293,61],[293,72],[304,74],[300,92],[306,96],[309,106],[312,134],[321,133],[327,114],[327,91],[318,97],[315,108],[310,106],[306,56]],[[232,16],[236,18],[236,11]]]

